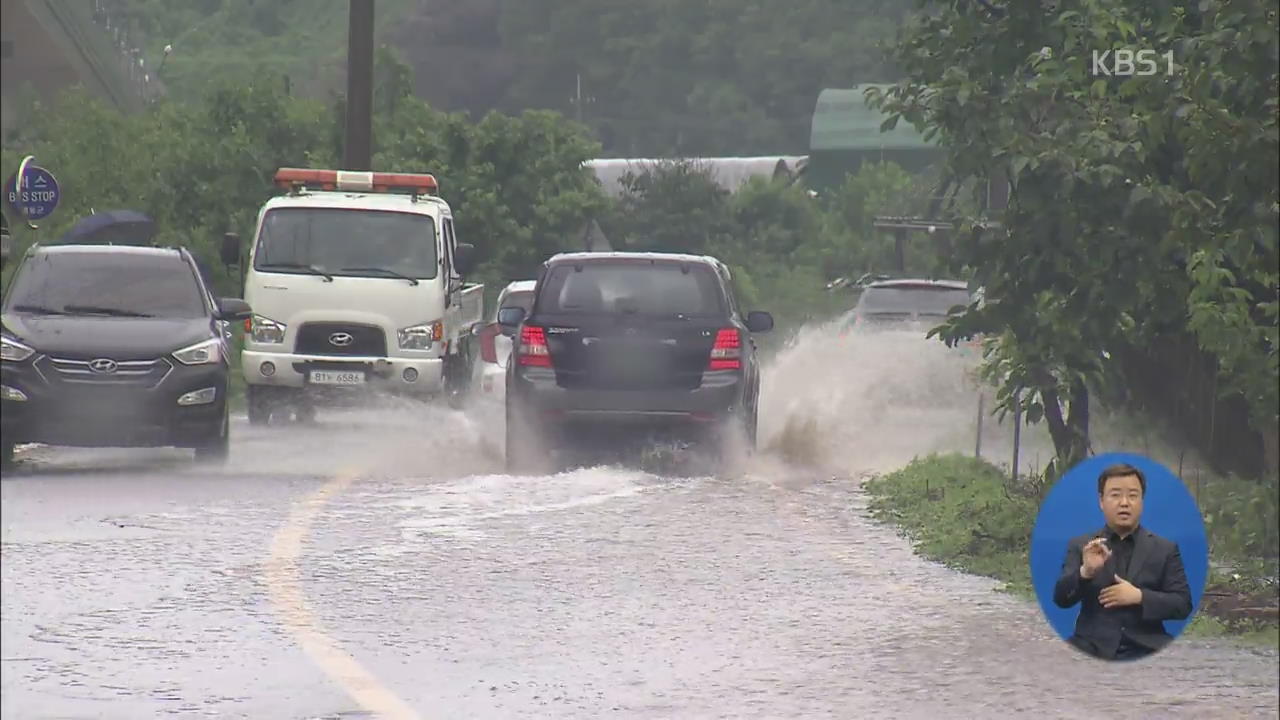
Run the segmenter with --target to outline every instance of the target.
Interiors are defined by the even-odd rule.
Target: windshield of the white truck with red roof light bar
[[[435,222],[385,210],[279,208],[262,219],[253,269],[430,279],[438,272]]]

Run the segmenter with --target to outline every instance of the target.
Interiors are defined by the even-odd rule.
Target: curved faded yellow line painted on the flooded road
[[[266,562],[266,587],[276,614],[302,650],[329,675],[329,679],[360,705],[361,710],[390,720],[421,720],[412,707],[378,682],[378,678],[365,670],[355,657],[343,652],[338,642],[324,632],[302,592],[298,560],[311,521],[330,497],[340,493],[355,480],[355,473],[340,473],[293,507],[289,520],[271,542],[271,555]]]

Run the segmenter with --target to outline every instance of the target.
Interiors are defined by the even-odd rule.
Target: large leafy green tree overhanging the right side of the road
[[[1012,184],[1002,227],[957,218],[955,265],[987,304],[942,337],[992,338],[1002,407],[1018,398],[1048,421],[1059,468],[1089,451],[1091,389],[1124,388],[1162,361],[1151,352],[1121,372],[1116,359],[1187,337],[1211,357],[1219,391],[1192,413],[1238,400],[1274,473],[1275,3],[929,5],[896,50],[909,77],[884,108],[940,133],[956,178],[1004,173]],[[1093,51],[1108,49],[1172,51],[1176,67],[1092,74]],[[1180,370],[1160,392],[1181,392]]]

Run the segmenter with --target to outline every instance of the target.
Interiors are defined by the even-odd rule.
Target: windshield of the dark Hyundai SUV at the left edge
[[[177,254],[41,252],[22,265],[5,311],[204,318],[191,266]]]

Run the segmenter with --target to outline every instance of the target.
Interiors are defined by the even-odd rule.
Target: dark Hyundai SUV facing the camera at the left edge
[[[229,447],[229,323],[184,249],[33,246],[5,292],[0,443]]]

